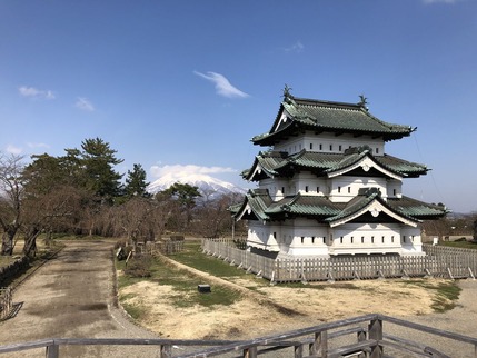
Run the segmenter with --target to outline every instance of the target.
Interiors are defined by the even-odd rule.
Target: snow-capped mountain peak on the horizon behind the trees
[[[216,199],[222,195],[242,193],[247,192],[246,189],[237,187],[230,182],[212,178],[207,175],[187,175],[178,177],[166,175],[155,180],[147,188],[148,192],[155,195],[159,191],[166,190],[176,182],[188,183],[199,188],[199,192],[203,199]]]

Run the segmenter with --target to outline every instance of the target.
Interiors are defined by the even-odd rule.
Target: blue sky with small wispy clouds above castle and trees
[[[433,169],[405,195],[477,210],[476,0],[1,0],[0,33],[3,153],[99,137],[121,172],[247,187],[287,83],[417,127],[386,147]]]

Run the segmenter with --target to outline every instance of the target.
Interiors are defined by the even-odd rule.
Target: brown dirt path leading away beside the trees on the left
[[[0,322],[0,344],[43,338],[157,338],[132,325],[115,308],[112,243],[66,241],[66,245],[57,259],[47,262],[13,292],[13,302],[20,309],[14,318]],[[93,346],[67,347],[60,354],[112,357],[119,352]],[[7,356],[44,357],[44,351]]]

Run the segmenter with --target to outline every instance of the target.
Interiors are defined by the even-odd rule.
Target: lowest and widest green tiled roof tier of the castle
[[[248,205],[255,218],[264,221],[282,220],[287,217],[312,217],[321,222],[334,222],[351,217],[374,200],[378,200],[390,212],[413,221],[436,219],[448,212],[444,207],[407,197],[384,200],[379,190],[368,188],[362,189],[360,195],[348,202],[331,202],[327,197],[300,193],[272,201],[267,190],[256,189],[248,192],[241,208],[233,213],[239,215]]]

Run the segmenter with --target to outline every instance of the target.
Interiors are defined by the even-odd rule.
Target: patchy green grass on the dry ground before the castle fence
[[[200,241],[186,241],[183,251],[171,255],[170,259],[178,261],[188,267],[195,268],[202,272],[207,272],[215,277],[228,281],[240,280],[240,285],[250,290],[257,290],[260,287],[268,287],[270,282],[266,279],[256,278],[254,275],[249,275],[244,269],[239,269],[236,266],[230,266],[223,260],[217,259],[211,256],[207,256],[200,250]],[[180,270],[160,257],[150,259],[148,265],[149,277],[131,277],[130,275],[120,275],[118,277],[119,288],[123,288],[129,285],[133,285],[141,280],[149,280],[159,285],[168,285],[173,288],[175,291],[182,292],[183,295],[176,296],[173,306],[176,307],[191,307],[195,305],[210,307],[213,305],[232,305],[240,299],[240,295],[237,291],[225,287],[215,285],[212,292],[203,295],[198,292],[197,284],[198,278],[190,271]],[[117,269],[122,271],[126,268],[125,261],[117,261]],[[248,284],[250,282],[250,284]],[[430,289],[436,292],[433,309],[435,311],[445,311],[454,308],[455,301],[459,297],[460,288],[455,281],[441,282],[438,286],[434,284],[426,284],[423,280],[410,280],[408,285],[421,286],[426,289]],[[301,289],[304,285],[301,282],[280,284],[284,288]],[[330,287],[324,285],[307,285],[308,289],[324,290],[326,288],[335,289],[359,289],[352,281],[349,282],[336,282]],[[128,297],[120,297],[121,301],[127,300]],[[138,307],[127,307],[132,317],[139,315]]]

